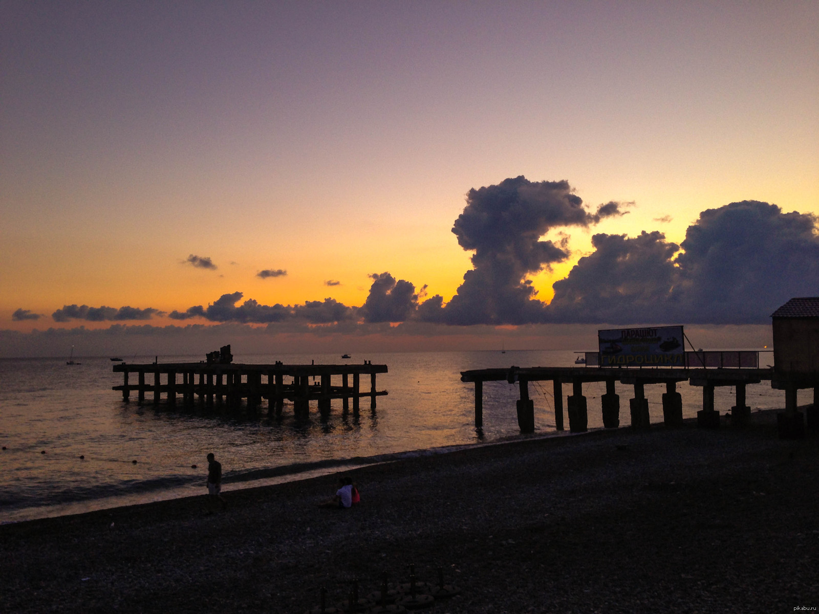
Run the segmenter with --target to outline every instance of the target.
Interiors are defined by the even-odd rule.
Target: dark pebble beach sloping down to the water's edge
[[[785,612],[819,605],[817,436],[692,421],[427,454],[335,476],[0,526],[9,612],[305,612],[438,566],[432,612]],[[693,421],[695,422],[695,421]],[[212,513],[209,513],[212,512]]]

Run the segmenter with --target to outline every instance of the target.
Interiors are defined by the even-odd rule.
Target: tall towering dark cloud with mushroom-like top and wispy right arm
[[[623,215],[621,207],[611,201],[590,213],[567,181],[532,182],[523,175],[473,188],[452,232],[464,250],[475,251],[474,268],[445,307],[433,296],[422,317],[464,325],[544,322],[545,303],[526,277],[567,260],[570,251],[565,235],[557,242],[541,237],[553,228],[587,228]]]

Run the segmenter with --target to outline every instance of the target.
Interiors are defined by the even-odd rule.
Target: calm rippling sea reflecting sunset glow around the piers
[[[474,387],[460,381],[460,372],[513,364],[568,367],[574,357],[566,351],[513,350],[362,354],[349,361],[336,354],[234,357],[237,363],[387,364],[389,372],[378,376],[378,390],[389,394],[378,397],[375,410],[364,398],[355,417],[342,412],[341,400],[333,400],[332,413],[323,422],[313,402],[306,425],[294,421],[287,403],[281,418],[268,414],[266,401],[258,413],[140,405],[135,395],[124,403],[120,392],[111,390],[122,383],[122,374],[112,372],[107,358],[80,358],[81,364],[72,366],[65,359],[0,360],[0,445],[6,448],[0,452],[0,522],[203,494],[205,456],[211,451],[224,467],[224,490],[231,490],[337,471],[338,463],[360,457],[432,454],[525,437],[518,431],[515,412],[517,384],[484,384],[484,426],[476,431]],[[129,363],[153,359],[127,358]],[[199,359],[161,356],[159,361]],[[564,385],[563,394],[571,394],[570,388]],[[677,390],[685,416],[695,416],[702,389],[683,382]],[[617,391],[621,424],[627,426],[627,400],[633,391],[619,384]],[[663,419],[664,391],[665,386],[645,388],[652,422]],[[603,383],[583,386],[590,428],[603,426],[599,399],[604,392]],[[717,409],[730,409],[733,392],[717,388]],[[555,434],[551,382],[532,382],[530,396],[535,402],[535,436]],[[783,393],[766,383],[749,386],[747,397],[752,410],[784,406]],[[799,402],[810,400],[800,396]],[[565,413],[565,400],[563,407]],[[192,468],[194,464],[198,467]]]

